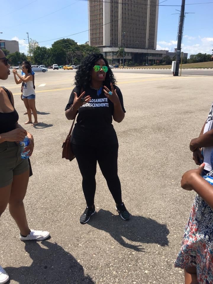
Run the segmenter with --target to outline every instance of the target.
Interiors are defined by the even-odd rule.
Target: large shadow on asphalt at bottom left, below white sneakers
[[[25,251],[33,260],[30,266],[6,267],[10,280],[19,284],[94,284],[83,267],[57,243],[25,242]],[[24,256],[24,252],[23,252]],[[7,282],[7,283],[10,283]]]

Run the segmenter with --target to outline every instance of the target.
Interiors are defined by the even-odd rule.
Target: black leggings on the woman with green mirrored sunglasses
[[[72,144],[72,150],[83,178],[82,187],[87,206],[94,204],[97,161],[115,203],[122,203],[121,184],[117,175],[118,144],[95,147]]]

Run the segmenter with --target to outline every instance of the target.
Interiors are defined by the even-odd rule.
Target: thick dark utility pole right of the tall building
[[[180,51],[181,51],[181,42],[183,35],[183,21],[184,21],[184,12],[185,12],[185,0],[182,0],[181,10],[180,10],[180,22],[178,28],[178,44],[177,44],[177,53],[176,53],[176,68],[174,76],[178,76],[179,66],[180,66]]]

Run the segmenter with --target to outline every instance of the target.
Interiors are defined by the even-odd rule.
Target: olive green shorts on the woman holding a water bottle
[[[15,142],[0,143],[0,187],[11,184],[14,175],[29,169],[28,159],[21,159],[20,150]]]

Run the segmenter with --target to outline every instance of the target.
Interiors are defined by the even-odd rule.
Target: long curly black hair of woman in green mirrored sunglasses
[[[116,79],[112,73],[111,68],[109,67],[108,61],[101,53],[92,53],[83,59],[75,75],[75,82],[74,82],[75,85],[80,86],[83,89],[90,86],[90,80],[91,80],[90,73],[95,63],[99,59],[103,59],[106,66],[108,67],[104,85],[110,86],[110,83],[115,85]]]

